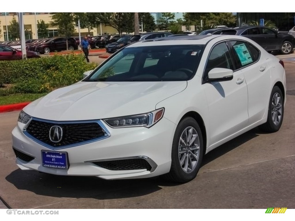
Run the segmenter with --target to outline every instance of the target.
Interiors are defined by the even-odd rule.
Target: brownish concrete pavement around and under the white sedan
[[[253,129],[209,152],[186,184],[161,178],[106,181],[22,171],[11,131],[19,112],[0,114],[0,196],[14,209],[295,208],[295,55],[285,62],[287,103],[277,133]],[[90,61],[99,62],[98,56]]]

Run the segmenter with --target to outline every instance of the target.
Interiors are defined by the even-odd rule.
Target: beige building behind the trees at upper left
[[[18,13],[17,12],[0,12],[0,42],[7,41],[7,34],[6,34],[6,24],[9,27],[10,22],[12,21],[13,16],[18,22]],[[36,39],[37,38],[37,21],[43,20],[45,24],[48,24],[48,37],[58,37],[58,27],[53,27],[50,22],[51,22],[51,15],[49,13],[42,13],[42,12],[25,12],[23,19],[24,19],[24,27],[25,30],[27,30],[25,33],[25,38],[26,39]],[[78,27],[76,28],[76,36],[78,36]],[[81,36],[87,35],[88,34],[88,29],[81,29]],[[91,36],[97,36],[101,34],[117,34],[117,30],[109,27],[109,26],[104,26],[101,25],[97,27],[96,29],[90,30],[90,35]],[[16,40],[16,39],[11,39],[8,33],[8,38],[9,41],[11,40]]]

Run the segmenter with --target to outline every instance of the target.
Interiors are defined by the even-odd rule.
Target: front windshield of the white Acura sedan
[[[184,81],[199,65],[204,45],[127,47],[84,81]]]

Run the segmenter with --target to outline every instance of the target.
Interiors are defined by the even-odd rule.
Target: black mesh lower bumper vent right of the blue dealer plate
[[[145,159],[124,159],[124,160],[110,160],[110,161],[97,161],[92,162],[97,166],[108,170],[138,170],[146,169],[150,171],[152,166]]]

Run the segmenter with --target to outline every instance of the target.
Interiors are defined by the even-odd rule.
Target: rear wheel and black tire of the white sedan
[[[284,99],[278,86],[274,86],[268,104],[266,123],[259,126],[265,132],[276,132],[281,128],[284,117]]]

